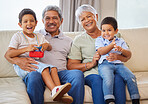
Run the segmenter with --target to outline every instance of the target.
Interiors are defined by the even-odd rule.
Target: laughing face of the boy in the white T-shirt
[[[37,21],[35,21],[33,15],[26,14],[22,17],[22,22],[18,24],[25,34],[32,34],[37,25]]]

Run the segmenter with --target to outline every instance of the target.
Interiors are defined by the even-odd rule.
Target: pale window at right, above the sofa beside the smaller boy
[[[148,0],[117,0],[120,29],[148,27]]]

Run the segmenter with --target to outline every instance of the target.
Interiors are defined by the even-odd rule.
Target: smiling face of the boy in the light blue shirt
[[[102,37],[108,39],[109,41],[114,38],[114,35],[117,34],[118,29],[114,30],[113,26],[110,24],[102,25]]]

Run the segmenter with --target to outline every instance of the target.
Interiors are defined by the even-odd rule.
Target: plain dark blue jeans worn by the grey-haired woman
[[[92,90],[93,104],[105,104],[103,94],[103,81],[100,75],[91,74],[85,77],[85,84]],[[126,104],[125,83],[118,74],[115,74],[114,83],[115,104]]]

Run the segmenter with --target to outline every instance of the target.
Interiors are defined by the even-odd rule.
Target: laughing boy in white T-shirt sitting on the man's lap
[[[50,51],[52,49],[49,42],[44,38],[42,34],[34,33],[34,29],[37,25],[36,15],[31,9],[23,9],[19,13],[18,25],[23,29],[21,32],[17,32],[13,35],[7,54],[10,57],[29,57],[30,51],[38,50],[37,46],[41,46],[41,51]],[[37,61],[37,60],[36,60]],[[35,71],[41,73],[45,85],[50,89],[51,96],[54,101],[62,101],[65,103],[72,103],[73,99],[71,96],[64,96],[71,88],[70,83],[61,85],[57,68],[41,63],[34,64],[38,67]],[[18,65],[14,65],[14,69],[18,76],[22,79],[29,73],[28,71],[22,70]]]

